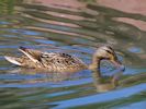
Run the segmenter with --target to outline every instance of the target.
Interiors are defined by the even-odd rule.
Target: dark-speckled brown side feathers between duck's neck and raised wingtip
[[[86,69],[87,65],[78,58],[57,52],[44,52],[41,55],[41,62],[44,66],[52,66],[53,69]]]

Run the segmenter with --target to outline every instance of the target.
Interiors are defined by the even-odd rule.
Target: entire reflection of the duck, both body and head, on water
[[[98,72],[92,71],[91,75],[93,77],[93,85],[98,93],[112,90],[119,86],[119,81],[123,74],[123,69],[115,70],[114,72],[116,73],[114,73],[112,76],[99,76]],[[27,76],[25,76],[25,78],[21,81],[23,84],[44,83],[44,82],[59,83],[63,81],[74,80],[72,76],[75,75],[75,73],[50,73],[47,71],[45,72],[42,70],[25,69],[25,68],[14,68],[13,70],[9,71],[9,73],[19,74],[22,76],[31,75],[32,76],[31,78],[27,78]],[[75,77],[75,80],[77,80],[77,76]]]

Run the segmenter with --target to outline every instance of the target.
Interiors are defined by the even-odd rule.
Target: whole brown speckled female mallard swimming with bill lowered
[[[102,59],[110,60],[119,66],[121,65],[114,50],[110,46],[98,48],[92,57],[92,63],[90,65],[87,65],[80,59],[67,53],[42,52],[24,47],[20,47],[19,50],[23,52],[24,56],[19,58],[4,56],[4,58],[9,62],[20,66],[42,69],[48,72],[78,72],[86,69],[96,71],[99,70]]]

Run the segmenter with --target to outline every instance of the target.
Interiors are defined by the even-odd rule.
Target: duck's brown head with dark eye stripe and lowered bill
[[[98,58],[99,60],[103,60],[103,59],[109,60],[115,66],[121,68],[123,71],[125,70],[124,65],[119,61],[114,50],[110,46],[100,47],[94,52],[94,58]]]

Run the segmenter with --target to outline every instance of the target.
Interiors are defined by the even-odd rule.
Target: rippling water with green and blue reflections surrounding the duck
[[[75,0],[76,1],[76,0]],[[88,1],[87,1],[88,2]],[[90,2],[96,2],[94,0]],[[0,1],[1,109],[145,109],[146,32],[117,19],[146,21],[143,14],[87,4],[83,8],[42,5],[30,0]],[[67,52],[91,62],[94,50],[110,44],[126,70],[102,62],[103,77],[89,70],[43,73],[21,69],[3,56],[20,56],[19,46]],[[112,76],[119,77],[113,85]]]

